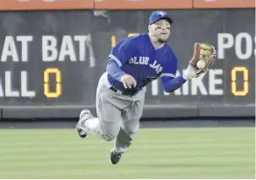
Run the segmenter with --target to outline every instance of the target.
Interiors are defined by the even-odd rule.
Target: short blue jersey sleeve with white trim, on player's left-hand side
[[[129,59],[132,58],[132,39],[124,38],[111,50],[110,59],[117,62],[118,66],[123,66]]]

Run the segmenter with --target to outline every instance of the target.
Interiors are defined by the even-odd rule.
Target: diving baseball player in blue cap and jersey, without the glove
[[[176,77],[178,60],[167,45],[173,19],[167,12],[154,11],[149,18],[148,33],[124,38],[111,50],[106,72],[96,89],[96,114],[82,110],[76,125],[78,135],[98,135],[114,141],[110,162],[116,164],[132,144],[143,113],[146,85],[158,78],[170,93],[188,79],[196,77],[196,68],[188,65]]]

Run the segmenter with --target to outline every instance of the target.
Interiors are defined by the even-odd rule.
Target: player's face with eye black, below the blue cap
[[[161,43],[166,43],[171,33],[171,24],[166,19],[160,19],[150,25],[149,31]]]

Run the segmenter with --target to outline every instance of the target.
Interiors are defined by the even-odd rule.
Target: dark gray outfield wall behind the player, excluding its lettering
[[[110,10],[96,16],[94,10],[67,11],[16,11],[1,12],[0,50],[3,50],[7,36],[14,39],[18,61],[11,56],[0,62],[1,87],[5,92],[5,72],[11,71],[11,87],[21,89],[20,73],[28,74],[28,89],[35,92],[34,97],[0,97],[2,118],[51,118],[76,117],[82,108],[95,112],[97,81],[104,72],[111,49],[111,38],[116,42],[130,33],[147,31],[148,17],[152,10]],[[203,77],[205,92],[196,88],[198,80],[188,83],[188,93],[181,87],[175,93],[165,94],[160,80],[154,81],[146,90],[146,106],[143,117],[213,117],[213,116],[254,116],[255,104],[255,11],[254,10],[168,10],[174,18],[174,28],[169,45],[174,49],[180,63],[180,72],[188,66],[195,42],[208,42],[219,48],[218,35],[231,34],[234,44],[225,50],[224,59],[219,58],[214,70]],[[189,18],[188,18],[189,17]],[[246,33],[252,39],[252,47],[246,47],[245,38],[238,45],[236,37]],[[32,36],[28,44],[28,61],[21,62],[21,43],[18,36]],[[53,36],[57,40],[57,59],[60,57],[63,37],[72,39],[75,60],[66,56],[63,61],[44,62],[42,52],[43,36]],[[75,36],[86,38],[84,61],[80,61],[81,46]],[[112,39],[113,40],[113,39]],[[63,45],[63,44],[62,44]],[[236,45],[241,52],[252,48],[249,59],[237,56]],[[63,48],[63,47],[62,47]],[[64,48],[65,49],[65,48]],[[242,66],[248,70],[248,93],[235,96],[231,93],[231,70]],[[58,68],[61,72],[61,94],[58,98],[48,98],[44,94],[44,72],[47,68]],[[212,79],[214,73],[223,72]],[[237,73],[238,91],[244,89],[243,73]],[[223,93],[212,94],[210,87],[215,80],[222,83],[216,89]],[[8,83],[7,83],[8,84]],[[199,83],[200,84],[200,83]],[[50,76],[50,90],[55,91],[55,76]],[[192,93],[192,89],[196,89]],[[195,93],[197,92],[197,93]]]

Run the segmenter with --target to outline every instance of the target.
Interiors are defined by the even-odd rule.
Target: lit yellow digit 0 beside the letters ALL
[[[56,85],[55,85],[55,91],[51,92],[50,91],[50,74],[54,74],[56,77]],[[46,71],[44,72],[44,93],[47,98],[58,98],[61,95],[61,73],[58,68],[47,68]]]

